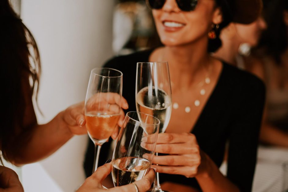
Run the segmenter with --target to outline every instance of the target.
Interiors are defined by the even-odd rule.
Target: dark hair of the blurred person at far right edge
[[[267,30],[263,32],[256,50],[262,50],[262,54],[270,55],[277,64],[281,64],[281,55],[288,48],[288,27],[283,18],[284,11],[288,11],[288,1],[264,0],[263,7]]]

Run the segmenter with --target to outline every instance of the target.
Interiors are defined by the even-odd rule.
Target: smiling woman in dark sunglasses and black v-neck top
[[[259,16],[260,0],[146,2],[164,46],[113,58],[105,66],[123,72],[123,96],[135,111],[136,62],[169,62],[172,115],[155,150],[165,155],[153,158],[162,189],[251,191],[265,88],[255,76],[210,53],[221,46],[222,28]],[[227,141],[224,176],[218,168]]]

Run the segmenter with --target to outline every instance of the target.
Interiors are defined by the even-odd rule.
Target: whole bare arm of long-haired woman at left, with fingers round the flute
[[[23,78],[23,93],[25,96],[25,112],[23,125],[16,127],[16,133],[9,139],[9,145],[5,149],[8,160],[17,165],[33,163],[46,158],[65,144],[73,135],[86,134],[84,102],[72,105],[65,111],[57,114],[50,122],[38,125],[32,104],[32,93],[28,78]],[[127,109],[127,101],[122,97],[119,106]],[[123,122],[119,119],[118,125]],[[122,122],[121,122],[122,121]],[[112,134],[116,138],[118,129]]]

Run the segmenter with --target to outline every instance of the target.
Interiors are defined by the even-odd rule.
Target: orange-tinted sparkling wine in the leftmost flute
[[[89,112],[85,114],[89,137],[102,144],[112,134],[120,115],[109,115],[108,112]]]

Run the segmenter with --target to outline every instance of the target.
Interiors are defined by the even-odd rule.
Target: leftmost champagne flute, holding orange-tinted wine
[[[123,73],[110,68],[91,71],[85,99],[85,119],[88,135],[95,144],[93,172],[96,171],[100,148],[120,118]]]

